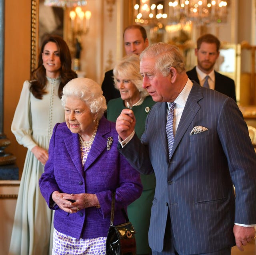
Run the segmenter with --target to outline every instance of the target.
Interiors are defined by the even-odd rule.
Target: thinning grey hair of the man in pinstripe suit
[[[154,43],[140,54],[140,60],[154,58],[154,68],[165,77],[170,73],[170,67],[174,67],[178,73],[186,71],[184,57],[177,46],[168,43]]]

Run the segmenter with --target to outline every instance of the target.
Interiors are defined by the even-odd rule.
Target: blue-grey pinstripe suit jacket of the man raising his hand
[[[118,145],[134,168],[156,175],[150,247],[162,251],[168,211],[178,252],[210,253],[235,245],[234,223],[256,223],[256,154],[242,113],[230,97],[194,83],[170,160],[166,116],[167,103],[156,103],[141,141],[135,135],[124,148]],[[208,130],[190,135],[199,125]]]

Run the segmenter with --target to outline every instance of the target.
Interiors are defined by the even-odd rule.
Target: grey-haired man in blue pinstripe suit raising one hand
[[[122,111],[116,130],[130,164],[156,175],[148,233],[153,255],[243,250],[255,238],[256,154],[242,113],[230,97],[192,83],[175,46],[153,44],[140,59],[143,87],[158,103],[141,140],[130,109]],[[170,157],[169,102],[176,103]]]

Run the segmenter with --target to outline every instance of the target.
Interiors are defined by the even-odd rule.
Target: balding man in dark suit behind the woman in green
[[[140,55],[148,47],[146,30],[140,25],[131,25],[125,28],[123,37],[126,55]],[[114,87],[113,69],[105,73],[101,88],[107,103],[110,99],[120,97],[119,90]]]

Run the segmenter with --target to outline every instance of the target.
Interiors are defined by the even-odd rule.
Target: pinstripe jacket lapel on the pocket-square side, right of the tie
[[[194,119],[196,113],[201,108],[200,105],[198,104],[198,101],[202,99],[202,97],[203,95],[201,86],[194,83],[190,91],[190,94],[188,95],[188,99],[184,107],[180,123],[177,128],[177,132],[175,134],[174,144],[172,147],[172,155],[176,150],[178,144],[180,143],[180,140],[184,136],[186,130],[188,129],[188,126]]]

